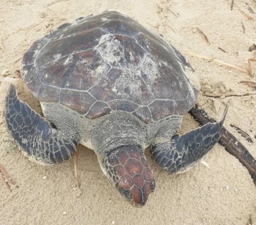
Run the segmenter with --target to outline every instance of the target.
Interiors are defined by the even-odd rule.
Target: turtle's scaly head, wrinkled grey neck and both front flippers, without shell
[[[147,125],[126,112],[88,120],[75,112],[73,116],[70,112],[65,114],[70,110],[61,105],[43,103],[42,106],[51,123],[20,101],[15,86],[10,86],[5,102],[6,124],[22,151],[29,158],[51,165],[69,160],[78,143],[83,143],[94,149],[102,171],[122,196],[138,206],[145,205],[155,188],[145,147],[151,143],[152,157],[162,169],[182,171],[218,142],[227,113],[226,108],[219,122],[178,136],[182,116],[173,116],[164,125]]]

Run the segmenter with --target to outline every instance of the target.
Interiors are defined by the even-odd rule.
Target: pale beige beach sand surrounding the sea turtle
[[[256,57],[255,51],[248,51],[256,42],[256,14],[250,12],[256,13],[255,0],[235,0],[233,10],[231,0],[2,0],[0,163],[18,188],[13,186],[10,191],[0,183],[0,225],[253,223],[256,187],[247,169],[219,144],[182,174],[161,171],[146,151],[157,186],[142,208],[127,203],[112,187],[92,150],[84,148],[79,155],[80,189],[76,190],[73,160],[43,167],[29,161],[18,150],[4,122],[4,96],[9,85],[4,78],[17,77],[22,55],[35,40],[65,22],[107,9],[131,16],[162,34],[180,51],[211,56],[245,69],[248,68],[248,58]],[[207,36],[209,43],[198,29]],[[247,73],[222,67],[210,60],[187,58],[200,75],[202,89],[198,105],[219,119],[225,104],[229,103],[224,125],[256,157],[256,94],[225,97],[225,93],[255,92],[239,82],[255,82],[256,76],[252,79]],[[256,65],[254,67],[256,70]],[[18,89],[18,94],[40,112],[38,102],[24,88]],[[205,96],[212,94],[224,96]],[[230,124],[247,132],[254,143],[247,142]],[[198,124],[186,114],[180,132],[195,127]]]

